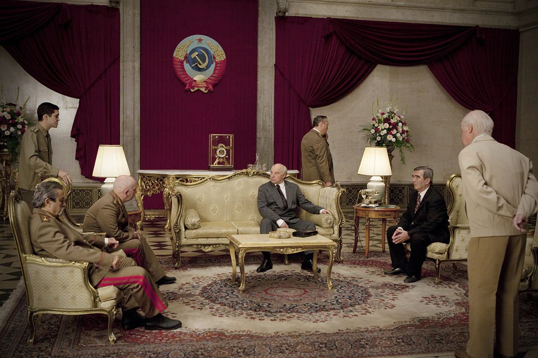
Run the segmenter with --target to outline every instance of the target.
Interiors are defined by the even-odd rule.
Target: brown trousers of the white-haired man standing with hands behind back
[[[515,356],[519,340],[519,281],[525,235],[472,237],[469,242],[469,342],[473,358]]]

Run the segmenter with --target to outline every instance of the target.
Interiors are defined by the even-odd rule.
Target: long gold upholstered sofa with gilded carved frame
[[[227,247],[228,237],[232,234],[259,233],[258,187],[269,180],[266,172],[248,169],[195,182],[177,180],[169,185],[176,267],[181,264],[183,246],[209,252],[217,247]],[[286,180],[299,185],[308,200],[331,211],[332,217],[298,209],[298,216],[314,222],[320,235],[338,243],[337,259],[341,260],[341,228],[345,218],[340,197],[345,189],[339,185],[325,187],[321,181],[306,182],[290,176],[286,176]]]

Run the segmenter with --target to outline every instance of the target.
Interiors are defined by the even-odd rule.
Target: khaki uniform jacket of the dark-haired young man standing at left
[[[58,177],[59,169],[52,166],[52,145],[48,131],[39,123],[25,131],[20,141],[19,188],[36,190],[38,173],[45,177]]]

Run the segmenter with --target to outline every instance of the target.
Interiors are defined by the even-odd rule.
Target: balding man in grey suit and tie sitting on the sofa
[[[263,217],[260,223],[260,233],[268,233],[277,228],[292,228],[296,230],[315,230],[314,223],[301,220],[295,214],[295,208],[300,207],[312,214],[331,214],[327,209],[315,206],[305,198],[299,186],[284,181],[288,170],[282,164],[271,167],[271,181],[258,188],[258,210]],[[265,272],[273,268],[271,253],[263,251],[264,260],[257,272]],[[305,261],[301,268],[312,271],[313,252],[305,252]],[[321,270],[318,269],[318,272]]]

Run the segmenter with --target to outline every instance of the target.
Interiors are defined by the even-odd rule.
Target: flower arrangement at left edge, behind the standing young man
[[[15,102],[18,99],[19,89],[17,89]],[[22,138],[27,127],[34,122],[33,117],[25,113],[26,103],[29,99],[30,97],[26,99],[23,106],[4,101],[0,102],[0,150],[9,152],[13,161],[18,160],[20,138]]]

